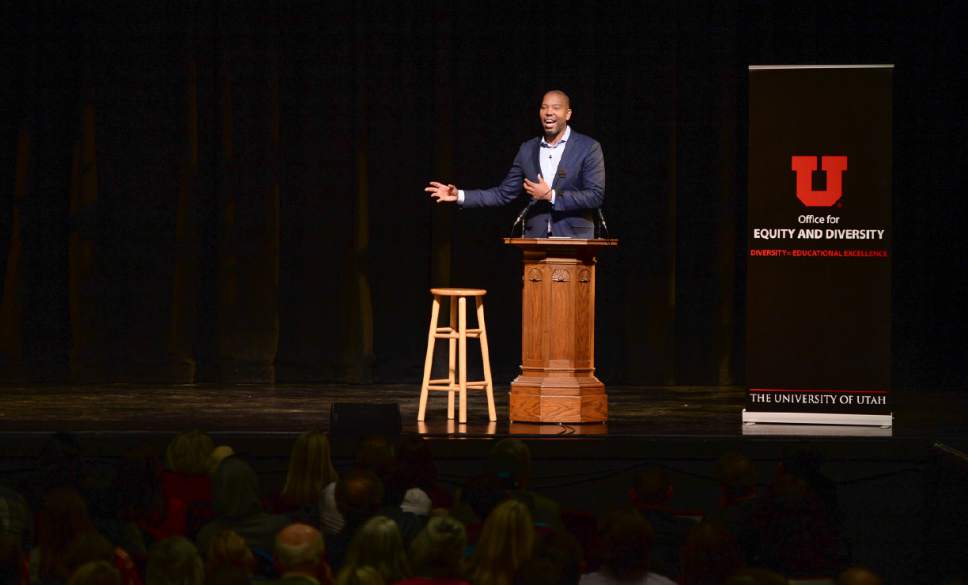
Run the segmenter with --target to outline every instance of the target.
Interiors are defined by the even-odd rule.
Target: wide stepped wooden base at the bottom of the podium
[[[608,420],[605,385],[594,376],[543,381],[519,376],[511,383],[509,402],[512,423],[603,423]]]

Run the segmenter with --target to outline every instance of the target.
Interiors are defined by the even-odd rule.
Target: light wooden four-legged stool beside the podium
[[[417,421],[423,422],[427,412],[429,391],[447,392],[447,418],[454,418],[454,392],[460,394],[460,423],[467,422],[467,390],[487,392],[488,420],[494,422],[494,385],[491,383],[491,360],[487,353],[487,329],[484,327],[484,300],[486,290],[479,288],[432,288],[433,307],[430,311],[430,331],[427,334],[427,357],[424,360],[424,377],[420,385],[420,409]],[[450,326],[438,327],[440,298],[450,298]],[[467,328],[467,297],[474,297],[477,305],[477,329]],[[455,302],[456,301],[456,302]],[[477,338],[481,342],[481,362],[484,365],[484,380],[467,381],[467,338]],[[434,344],[438,339],[448,340],[448,374],[446,378],[430,379],[430,369],[434,361]],[[457,350],[455,355],[454,350]]]

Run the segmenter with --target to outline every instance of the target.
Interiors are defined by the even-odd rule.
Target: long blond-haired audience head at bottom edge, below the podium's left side
[[[534,524],[528,507],[518,500],[499,504],[484,521],[471,557],[476,585],[509,585],[534,552]]]

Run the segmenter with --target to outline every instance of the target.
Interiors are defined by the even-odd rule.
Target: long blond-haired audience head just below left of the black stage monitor
[[[289,473],[282,497],[303,506],[319,502],[319,496],[330,483],[336,481],[329,439],[317,431],[299,435],[289,455]]]

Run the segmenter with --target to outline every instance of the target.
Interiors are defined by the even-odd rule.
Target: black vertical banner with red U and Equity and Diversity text
[[[743,422],[892,423],[892,73],[750,67]]]

